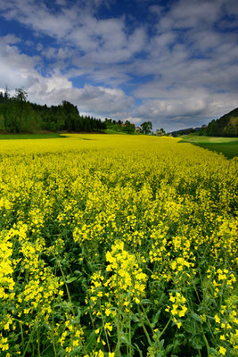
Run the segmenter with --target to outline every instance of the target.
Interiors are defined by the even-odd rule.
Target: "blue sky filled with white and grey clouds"
[[[0,90],[173,131],[238,106],[237,0],[0,0]]]

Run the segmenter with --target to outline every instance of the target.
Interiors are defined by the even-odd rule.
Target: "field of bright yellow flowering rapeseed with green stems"
[[[237,159],[0,141],[0,356],[237,356]]]

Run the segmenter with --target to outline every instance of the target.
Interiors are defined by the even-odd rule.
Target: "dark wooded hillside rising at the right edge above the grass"
[[[217,120],[211,120],[201,135],[209,137],[238,137],[238,108]]]

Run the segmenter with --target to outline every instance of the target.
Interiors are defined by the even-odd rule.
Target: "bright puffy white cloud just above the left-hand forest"
[[[70,79],[62,75],[61,71],[53,71],[50,76],[43,77],[37,71],[37,66],[41,64],[40,58],[21,54],[16,46],[6,45],[12,40],[13,37],[0,38],[2,90],[4,84],[11,89],[23,86],[28,90],[32,102],[52,105],[68,100],[77,104],[80,112],[99,117],[123,115],[133,105],[133,98],[119,88],[90,85],[73,87]]]

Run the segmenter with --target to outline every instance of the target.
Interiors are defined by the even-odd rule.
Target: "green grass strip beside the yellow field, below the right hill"
[[[188,134],[180,137],[181,143],[199,145],[204,149],[224,154],[228,159],[238,156],[237,137],[200,137],[198,134]]]

